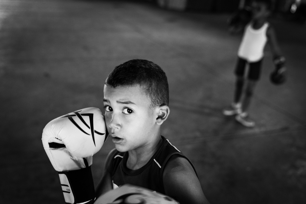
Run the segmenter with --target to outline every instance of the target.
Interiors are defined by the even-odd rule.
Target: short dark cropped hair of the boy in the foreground
[[[116,66],[105,84],[112,87],[139,85],[151,99],[151,106],[169,104],[168,79],[157,64],[145,59],[133,59]]]

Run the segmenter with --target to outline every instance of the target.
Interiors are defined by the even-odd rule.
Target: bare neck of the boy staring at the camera
[[[127,168],[136,170],[143,167],[151,157],[156,153],[162,142],[161,136],[152,142],[150,146],[144,146],[141,149],[133,149],[129,151],[127,159]]]

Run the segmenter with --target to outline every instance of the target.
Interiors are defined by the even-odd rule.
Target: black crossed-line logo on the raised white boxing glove
[[[100,133],[100,132],[94,130],[94,128],[93,128],[93,113],[81,113],[81,114],[80,114],[79,112],[81,112],[81,111],[75,111],[75,112],[73,112],[74,114],[71,114],[71,115],[64,115],[63,118],[68,117],[68,119],[69,119],[69,120],[79,129],[79,130],[81,130],[81,131],[82,131],[83,133],[85,133],[85,134],[88,134],[88,133],[85,132],[85,131],[84,131],[75,121],[74,121],[74,119],[72,118],[72,117],[74,117],[74,116],[77,116],[77,117],[82,121],[82,123],[84,123],[84,125],[86,125],[86,127],[88,127],[88,128],[91,130],[91,136],[93,137],[93,143],[94,143],[95,146],[96,146],[94,133],[100,134],[100,135],[104,135],[105,133]],[[88,116],[88,117],[89,117],[90,127],[89,127],[88,124],[85,122],[85,120],[83,119],[82,115],[83,115],[83,116]],[[90,134],[88,134],[88,135],[90,135]]]

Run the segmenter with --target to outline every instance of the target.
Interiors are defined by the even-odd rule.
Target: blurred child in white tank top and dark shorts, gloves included
[[[250,5],[250,7],[238,10],[229,20],[229,31],[233,34],[243,32],[243,37],[238,49],[235,68],[234,98],[230,106],[223,110],[226,116],[236,115],[236,121],[245,127],[255,126],[255,121],[248,115],[248,108],[255,85],[260,78],[264,47],[267,42],[270,45],[275,65],[275,70],[270,74],[271,82],[283,83],[286,73],[285,58],[281,54],[274,28],[267,21],[271,14],[271,2],[253,0]]]

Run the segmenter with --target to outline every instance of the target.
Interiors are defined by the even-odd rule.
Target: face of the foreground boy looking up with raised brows
[[[139,86],[104,85],[105,123],[120,152],[149,145],[157,134],[156,109]]]

